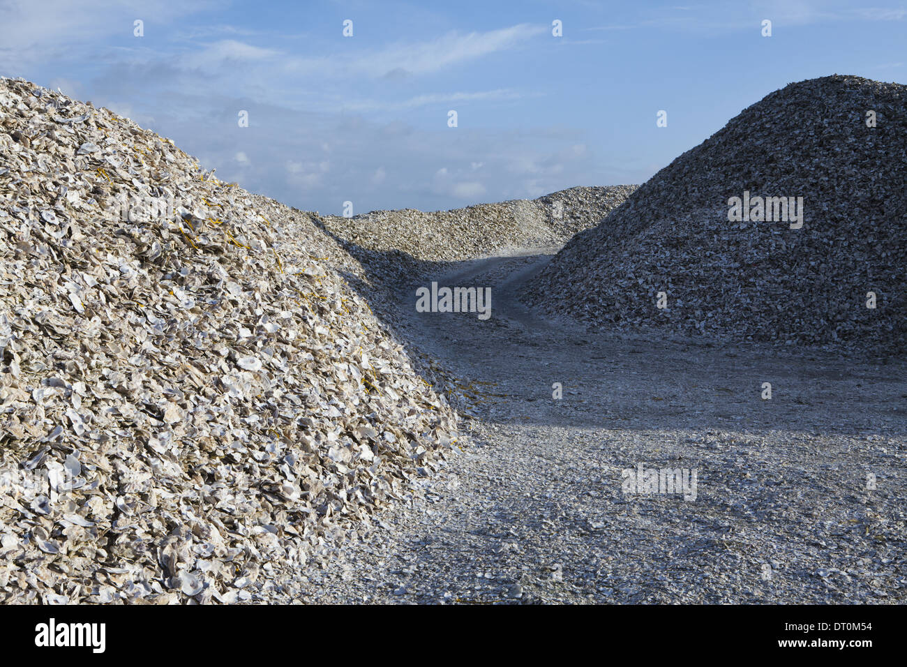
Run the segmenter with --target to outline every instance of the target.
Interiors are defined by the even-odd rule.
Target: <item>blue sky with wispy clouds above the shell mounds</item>
[[[680,2],[0,0],[0,74],[322,213],[639,183],[787,83],[904,83],[905,4]]]

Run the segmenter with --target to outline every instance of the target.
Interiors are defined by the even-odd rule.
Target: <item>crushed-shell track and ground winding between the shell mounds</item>
[[[340,560],[288,573],[289,598],[907,600],[902,360],[589,334],[516,300],[537,253],[429,279],[492,287],[485,321],[401,292],[414,347],[472,397],[463,451]],[[622,493],[640,463],[696,469],[695,500]]]

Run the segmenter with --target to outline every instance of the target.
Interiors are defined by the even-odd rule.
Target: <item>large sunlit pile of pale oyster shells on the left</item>
[[[430,474],[453,410],[340,267],[307,214],[0,79],[0,602],[267,600]]]

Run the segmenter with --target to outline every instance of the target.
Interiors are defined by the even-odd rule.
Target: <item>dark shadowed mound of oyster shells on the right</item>
[[[907,342],[905,182],[907,87],[791,83],[574,237],[524,297],[597,329],[893,352]],[[803,227],[728,221],[745,191],[803,197]]]

